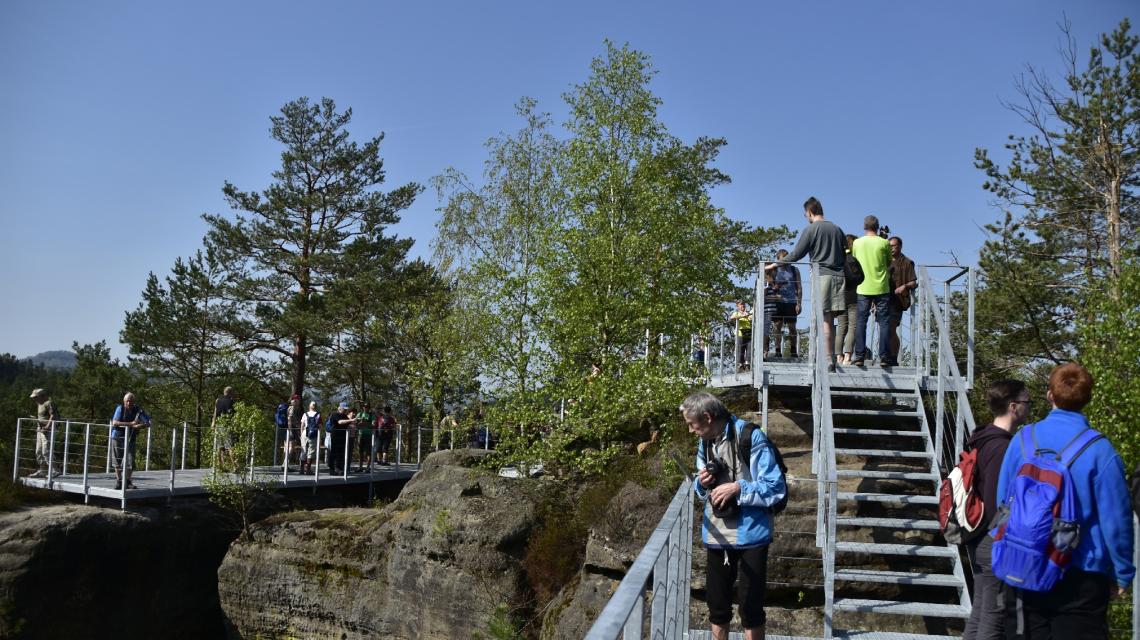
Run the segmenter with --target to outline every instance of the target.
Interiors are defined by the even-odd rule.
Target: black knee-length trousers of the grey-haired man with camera
[[[744,629],[764,626],[764,597],[768,588],[768,548],[709,549],[706,600],[709,622],[727,625],[732,622],[732,588],[736,586],[740,623]]]

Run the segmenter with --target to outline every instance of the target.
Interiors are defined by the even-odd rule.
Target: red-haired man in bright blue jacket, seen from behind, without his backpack
[[[1053,410],[1033,426],[1036,448],[1062,451],[1089,429],[1081,410],[1092,399],[1092,375],[1075,363],[1064,364],[1049,376],[1047,397]],[[1002,459],[997,496],[1009,497],[1009,487],[1025,461],[1021,439],[1013,437]],[[1034,447],[1028,446],[1032,452]],[[1108,638],[1108,601],[1127,590],[1135,576],[1132,564],[1132,503],[1124,480],[1124,462],[1107,438],[1092,444],[1069,467],[1076,491],[1081,542],[1065,577],[1052,591],[1015,590],[1020,606],[1008,602],[1005,630],[1021,630],[1023,638],[1076,640]],[[1020,619],[1019,619],[1020,618]]]

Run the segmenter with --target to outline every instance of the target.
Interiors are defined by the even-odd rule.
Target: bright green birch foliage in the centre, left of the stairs
[[[648,439],[692,375],[690,335],[787,237],[711,204],[725,143],[670,135],[653,74],[646,55],[606,42],[564,96],[567,139],[523,99],[523,128],[487,145],[482,186],[455,170],[434,181],[437,257],[489,382],[491,463],[596,473]]]

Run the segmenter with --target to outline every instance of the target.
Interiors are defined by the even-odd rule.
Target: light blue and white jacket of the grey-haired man
[[[748,424],[735,415],[728,416],[728,427],[733,430],[733,449],[741,430]],[[701,541],[709,549],[747,549],[764,546],[772,542],[772,513],[768,508],[780,502],[788,487],[783,473],[776,465],[775,456],[768,447],[768,438],[759,429],[752,430],[751,460],[748,471],[751,479],[739,478],[740,517],[727,522],[714,518],[712,504],[708,502],[708,491],[693,483],[693,491],[705,502],[705,518],[701,525]],[[705,440],[697,446],[697,468],[705,468]],[[741,473],[742,475],[742,473]]]

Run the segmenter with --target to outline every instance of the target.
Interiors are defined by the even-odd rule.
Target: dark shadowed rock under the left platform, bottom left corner
[[[207,503],[0,515],[0,638],[218,638],[236,532]]]

